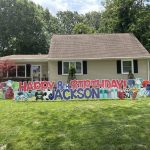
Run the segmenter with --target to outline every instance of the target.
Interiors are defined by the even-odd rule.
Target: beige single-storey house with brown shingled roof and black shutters
[[[7,79],[67,81],[69,66],[77,79],[149,80],[150,54],[133,34],[53,35],[48,55],[11,55],[0,60],[16,62]]]

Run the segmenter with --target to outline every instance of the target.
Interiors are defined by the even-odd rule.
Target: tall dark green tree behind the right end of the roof
[[[132,32],[150,51],[150,6],[145,0],[106,0],[99,32]]]

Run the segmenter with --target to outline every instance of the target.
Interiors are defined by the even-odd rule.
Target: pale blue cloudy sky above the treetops
[[[50,13],[56,15],[57,11],[77,11],[85,14],[91,11],[102,11],[103,0],[31,0],[36,4],[40,4],[44,8],[48,8]]]

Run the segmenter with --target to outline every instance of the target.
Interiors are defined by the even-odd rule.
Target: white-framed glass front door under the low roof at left
[[[32,81],[41,80],[41,65],[32,65],[31,67]]]

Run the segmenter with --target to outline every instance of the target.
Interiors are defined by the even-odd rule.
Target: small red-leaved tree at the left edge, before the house
[[[10,60],[0,60],[0,82],[7,77],[7,72],[13,72],[15,69],[15,62]]]

